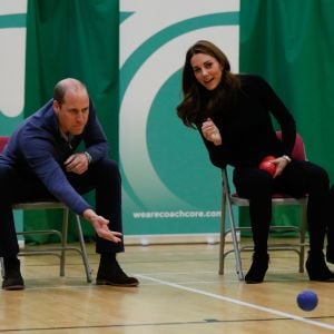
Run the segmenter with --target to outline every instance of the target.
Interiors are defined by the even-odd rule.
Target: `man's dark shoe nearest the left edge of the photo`
[[[3,289],[23,289],[24,282],[20,272],[20,261],[14,257],[3,257],[4,277]]]

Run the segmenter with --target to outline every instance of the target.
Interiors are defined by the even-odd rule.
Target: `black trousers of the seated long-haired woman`
[[[234,184],[239,196],[249,199],[255,252],[267,252],[274,193],[285,193],[295,198],[308,194],[310,249],[323,250],[328,224],[334,222],[330,218],[330,179],[322,167],[310,161],[293,160],[275,179],[258,168],[236,168]]]

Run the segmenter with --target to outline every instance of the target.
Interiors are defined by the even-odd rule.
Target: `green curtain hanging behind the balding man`
[[[24,117],[52,97],[60,79],[82,80],[108,129],[114,159],[118,158],[118,0],[29,0],[27,13]],[[58,219],[50,210],[24,212],[27,229],[58,225]],[[84,229],[92,235],[89,224]]]

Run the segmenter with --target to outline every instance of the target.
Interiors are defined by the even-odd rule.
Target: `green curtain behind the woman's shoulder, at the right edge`
[[[242,72],[264,76],[297,122],[307,158],[334,177],[334,1],[240,0]],[[295,210],[274,213],[283,223]],[[248,224],[240,212],[240,224]]]

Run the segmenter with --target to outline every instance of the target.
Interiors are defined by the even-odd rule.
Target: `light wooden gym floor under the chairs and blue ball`
[[[127,246],[118,259],[140,279],[139,287],[86,282],[81,258],[68,253],[66,277],[55,256],[21,257],[27,288],[0,292],[0,333],[196,334],[330,333],[334,331],[334,283],[310,282],[297,273],[297,256],[272,252],[263,284],[237,281],[234,255],[218,275],[219,245]],[[88,245],[94,277],[98,257]],[[250,253],[243,253],[244,272]],[[334,269],[334,266],[332,266]],[[313,289],[312,312],[296,295]]]

